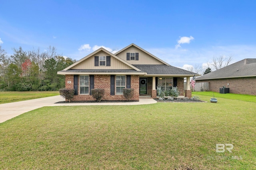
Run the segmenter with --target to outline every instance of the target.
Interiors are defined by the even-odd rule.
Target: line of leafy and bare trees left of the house
[[[13,48],[10,56],[0,46],[0,91],[57,91],[65,87],[65,77],[57,71],[75,62],[51,46],[44,52]]]

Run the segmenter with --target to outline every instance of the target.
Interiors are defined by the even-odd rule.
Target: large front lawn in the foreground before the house
[[[42,107],[0,123],[0,169],[256,169],[255,109],[219,97]],[[217,153],[216,144],[234,148]]]

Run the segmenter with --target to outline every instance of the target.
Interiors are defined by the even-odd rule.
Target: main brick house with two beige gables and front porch
[[[65,75],[66,88],[75,89],[74,101],[90,101],[93,88],[105,90],[102,100],[126,100],[123,88],[134,88],[131,100],[142,95],[156,98],[157,87],[177,87],[180,95],[191,97],[190,86],[184,90],[184,78],[196,73],[171,66],[132,43],[115,54],[100,48],[58,74]]]

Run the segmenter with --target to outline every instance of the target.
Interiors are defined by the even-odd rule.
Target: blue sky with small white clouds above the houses
[[[0,9],[9,55],[51,45],[79,60],[101,46],[114,53],[135,43],[181,68],[220,55],[256,58],[254,0],[2,0]]]

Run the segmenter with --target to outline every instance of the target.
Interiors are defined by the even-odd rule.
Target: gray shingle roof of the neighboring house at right
[[[196,78],[196,80],[255,77],[255,76],[256,76],[256,59],[243,59],[236,63],[220,68],[219,70],[200,76]]]

